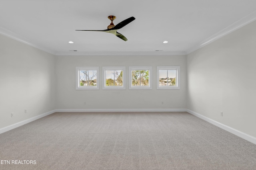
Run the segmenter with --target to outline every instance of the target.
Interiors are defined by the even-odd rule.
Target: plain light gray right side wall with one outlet
[[[190,53],[187,59],[187,108],[253,137],[255,28],[256,21]]]

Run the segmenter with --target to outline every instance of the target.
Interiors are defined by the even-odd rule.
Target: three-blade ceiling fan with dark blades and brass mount
[[[76,31],[102,31],[102,32],[106,32],[106,33],[112,33],[112,34],[116,35],[117,37],[119,37],[120,39],[122,39],[124,41],[127,41],[127,38],[124,37],[124,35],[118,33],[117,30],[124,27],[128,23],[132,22],[133,20],[135,20],[135,18],[134,17],[127,18],[126,20],[118,23],[117,25],[114,25],[114,23],[113,23],[113,20],[116,19],[115,16],[108,16],[108,19],[111,20],[110,25],[108,25],[108,29],[104,29],[104,30],[76,30]]]

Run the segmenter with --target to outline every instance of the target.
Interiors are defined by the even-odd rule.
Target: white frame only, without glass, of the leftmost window
[[[80,86],[80,70],[96,70],[97,71],[97,85],[96,86]],[[99,90],[100,76],[98,66],[78,66],[76,67],[76,90]]]

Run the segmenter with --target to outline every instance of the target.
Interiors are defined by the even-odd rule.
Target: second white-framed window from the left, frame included
[[[102,89],[125,89],[125,67],[102,67],[104,79]]]

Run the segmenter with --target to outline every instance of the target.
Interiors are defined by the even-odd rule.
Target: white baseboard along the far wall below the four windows
[[[182,112],[187,111],[187,109],[56,109],[56,112],[162,112],[162,111],[172,111],[172,112]]]

